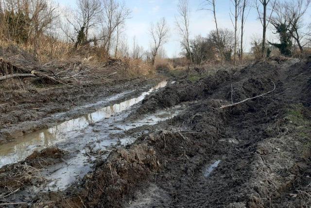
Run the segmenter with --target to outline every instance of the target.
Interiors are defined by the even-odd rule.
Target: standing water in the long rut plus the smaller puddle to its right
[[[138,104],[142,101],[148,94],[157,90],[158,88],[165,87],[167,81],[162,81],[157,86],[152,87],[149,91],[143,92],[139,97],[124,101],[120,104],[114,104],[105,106],[96,110],[93,113],[88,113],[82,117],[72,119],[69,121],[57,123],[51,128],[41,129],[33,133],[24,135],[16,140],[3,144],[0,146],[0,167],[6,164],[14,163],[23,160],[25,157],[29,156],[34,150],[41,150],[55,143],[66,142],[69,138],[75,138],[79,135],[87,134],[87,131],[92,132],[94,123],[99,121],[105,121],[102,126],[105,126],[104,133],[108,133],[109,130],[113,129],[111,123],[115,122],[115,119],[111,117],[118,113],[126,111],[131,108],[134,104]],[[120,116],[119,116],[120,117]],[[119,121],[125,117],[121,116]],[[164,116],[164,118],[167,116]],[[152,120],[153,118],[149,118]],[[160,119],[163,120],[163,119]],[[159,121],[155,119],[155,121]],[[120,125],[123,129],[130,129],[135,126],[148,124],[149,121],[137,121],[138,123],[131,124],[118,124],[114,126],[114,130],[120,129]],[[107,125],[109,123],[109,125]],[[100,128],[102,128],[102,126]],[[88,127],[88,128],[87,128]],[[108,130],[108,131],[107,131]],[[117,131],[114,131],[117,133]],[[111,132],[109,132],[110,134]],[[86,143],[86,142],[82,142]]]

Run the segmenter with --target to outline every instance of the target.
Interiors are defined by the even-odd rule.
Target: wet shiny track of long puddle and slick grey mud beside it
[[[32,154],[34,150],[39,151],[56,144],[58,148],[68,152],[68,154],[61,161],[49,165],[48,169],[41,171],[42,176],[48,183],[26,189],[27,191],[24,191],[24,194],[34,194],[38,191],[65,190],[72,182],[84,177],[91,170],[94,161],[99,159],[94,156],[95,153],[104,153],[101,155],[103,159],[114,148],[135,141],[135,138],[126,136],[125,131],[143,125],[153,125],[177,115],[181,110],[180,107],[160,110],[155,114],[145,115],[144,118],[136,120],[126,120],[129,113],[138,107],[134,106],[135,104],[167,84],[167,81],[160,82],[149,91],[143,92],[139,97],[119,104],[101,107],[95,112],[80,118],[35,131],[17,138],[13,142],[3,144],[0,147],[0,164],[3,166],[22,161]],[[96,105],[98,104],[99,102],[96,103]],[[42,163],[44,164],[44,162],[43,158]]]

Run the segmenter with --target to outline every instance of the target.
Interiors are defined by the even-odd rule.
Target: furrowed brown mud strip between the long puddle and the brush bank
[[[0,143],[54,126],[56,122],[94,112],[94,109],[111,104],[111,101],[120,103],[128,100],[161,80],[163,78],[157,76],[151,79],[137,78],[122,84],[104,83],[85,87],[36,86],[36,92],[14,89],[10,83],[9,89],[0,91]],[[28,85],[22,83],[21,86]],[[107,100],[109,96],[112,98]],[[84,111],[77,111],[80,108]]]

